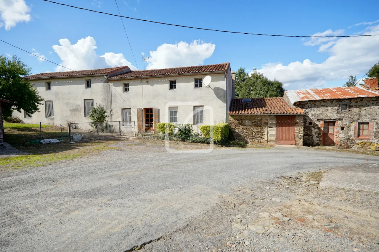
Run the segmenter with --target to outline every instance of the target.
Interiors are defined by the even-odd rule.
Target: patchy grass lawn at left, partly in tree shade
[[[109,145],[122,141],[121,138],[112,138],[69,144],[68,131],[67,128],[64,128],[64,140],[60,143],[29,144],[28,142],[39,140],[39,124],[4,123],[4,133],[5,142],[32,155],[0,158],[0,169],[37,167],[53,162],[72,160],[84,155],[96,155],[103,150],[115,149]],[[46,138],[59,139],[60,137],[60,127],[41,125],[41,140]]]

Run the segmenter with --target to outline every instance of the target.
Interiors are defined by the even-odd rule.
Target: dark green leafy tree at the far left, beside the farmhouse
[[[10,100],[3,102],[2,114],[4,118],[12,116],[13,110],[26,114],[38,112],[38,105],[44,100],[37,92],[33,84],[22,76],[30,75],[31,69],[20,58],[13,56],[8,60],[5,55],[0,55],[0,98]]]

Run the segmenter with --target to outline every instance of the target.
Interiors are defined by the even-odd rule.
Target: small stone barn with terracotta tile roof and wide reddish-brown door
[[[303,144],[303,110],[283,97],[232,99],[229,127],[241,142]]]

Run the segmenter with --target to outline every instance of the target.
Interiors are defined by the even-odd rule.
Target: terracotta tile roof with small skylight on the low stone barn
[[[274,97],[251,98],[251,102],[232,99],[229,114],[304,114],[304,111],[290,107],[283,97]]]

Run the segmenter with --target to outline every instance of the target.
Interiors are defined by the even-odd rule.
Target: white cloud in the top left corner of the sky
[[[0,28],[8,31],[19,22],[28,22],[31,17],[30,7],[24,0],[0,0]]]

